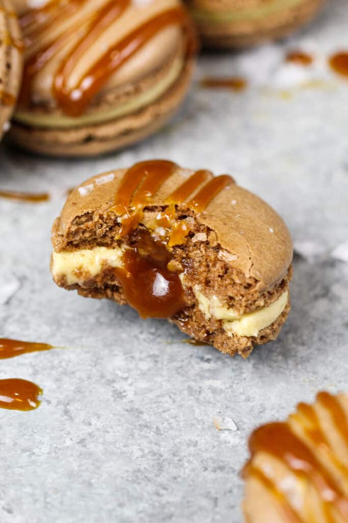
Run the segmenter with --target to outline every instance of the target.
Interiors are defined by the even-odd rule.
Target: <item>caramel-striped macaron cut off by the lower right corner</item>
[[[348,395],[320,392],[249,439],[247,523],[348,521]]]

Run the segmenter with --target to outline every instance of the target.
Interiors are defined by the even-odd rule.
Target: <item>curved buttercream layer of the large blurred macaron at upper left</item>
[[[151,89],[145,90],[143,93],[132,97],[129,100],[124,101],[122,104],[118,104],[116,107],[109,108],[107,110],[101,110],[88,115],[83,115],[77,118],[72,118],[64,115],[50,115],[50,114],[39,114],[30,111],[18,111],[14,115],[14,119],[17,122],[29,125],[32,127],[44,127],[44,128],[59,128],[68,129],[74,127],[83,127],[86,125],[94,125],[98,123],[104,123],[116,118],[134,113],[143,107],[152,104],[155,100],[159,99],[170,87],[174,84],[179,74],[183,69],[183,58],[178,57],[170,69],[170,71],[163,77],[156,85]]]

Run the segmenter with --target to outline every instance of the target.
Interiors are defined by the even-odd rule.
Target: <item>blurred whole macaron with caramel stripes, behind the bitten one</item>
[[[157,131],[191,79],[195,36],[181,0],[15,0],[26,54],[11,138],[90,156]]]

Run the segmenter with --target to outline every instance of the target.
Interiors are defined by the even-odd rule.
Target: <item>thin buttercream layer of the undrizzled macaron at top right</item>
[[[244,22],[252,20],[260,20],[266,16],[272,15],[284,9],[289,9],[301,4],[303,0],[273,0],[267,2],[266,5],[247,9],[202,9],[194,8],[192,12],[196,19],[209,22],[217,22],[223,24],[224,22]]]

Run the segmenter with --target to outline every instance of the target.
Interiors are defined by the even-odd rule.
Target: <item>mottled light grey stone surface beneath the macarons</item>
[[[348,264],[332,256],[348,239],[348,82],[327,66],[348,48],[348,5],[329,4],[283,43],[200,58],[181,113],[133,149],[82,162],[0,149],[1,188],[53,194],[0,202],[0,334],[67,347],[1,362],[1,378],[44,389],[38,410],[0,411],[1,523],[239,523],[250,431],[320,389],[348,389]],[[293,47],[314,65],[284,65]],[[208,73],[245,75],[249,87],[202,89]],[[301,254],[293,311],[278,341],[247,361],[51,281],[65,189],[152,157],[232,173],[290,227]],[[238,430],[219,432],[214,416]]]

